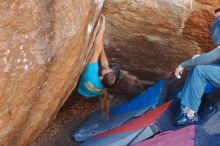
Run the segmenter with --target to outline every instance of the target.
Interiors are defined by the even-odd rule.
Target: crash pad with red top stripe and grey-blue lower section
[[[96,135],[80,146],[125,146],[143,141],[159,132],[155,122],[165,113],[172,101],[136,117],[123,125]]]

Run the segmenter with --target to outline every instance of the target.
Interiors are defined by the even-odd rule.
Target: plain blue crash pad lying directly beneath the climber
[[[131,118],[144,114],[157,105],[163,86],[164,81],[161,80],[131,101],[113,107],[110,110],[108,120],[102,116],[101,111],[93,113],[73,134],[74,140],[85,141],[94,135],[120,126]]]

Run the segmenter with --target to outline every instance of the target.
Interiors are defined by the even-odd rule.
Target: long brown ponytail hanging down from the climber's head
[[[110,109],[110,98],[107,89],[102,90],[102,94],[99,97],[99,103],[102,110],[103,116],[109,118],[109,109]]]

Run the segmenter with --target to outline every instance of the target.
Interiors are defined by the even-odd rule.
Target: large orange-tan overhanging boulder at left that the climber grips
[[[86,64],[103,0],[0,4],[0,145],[27,145],[55,117]]]

